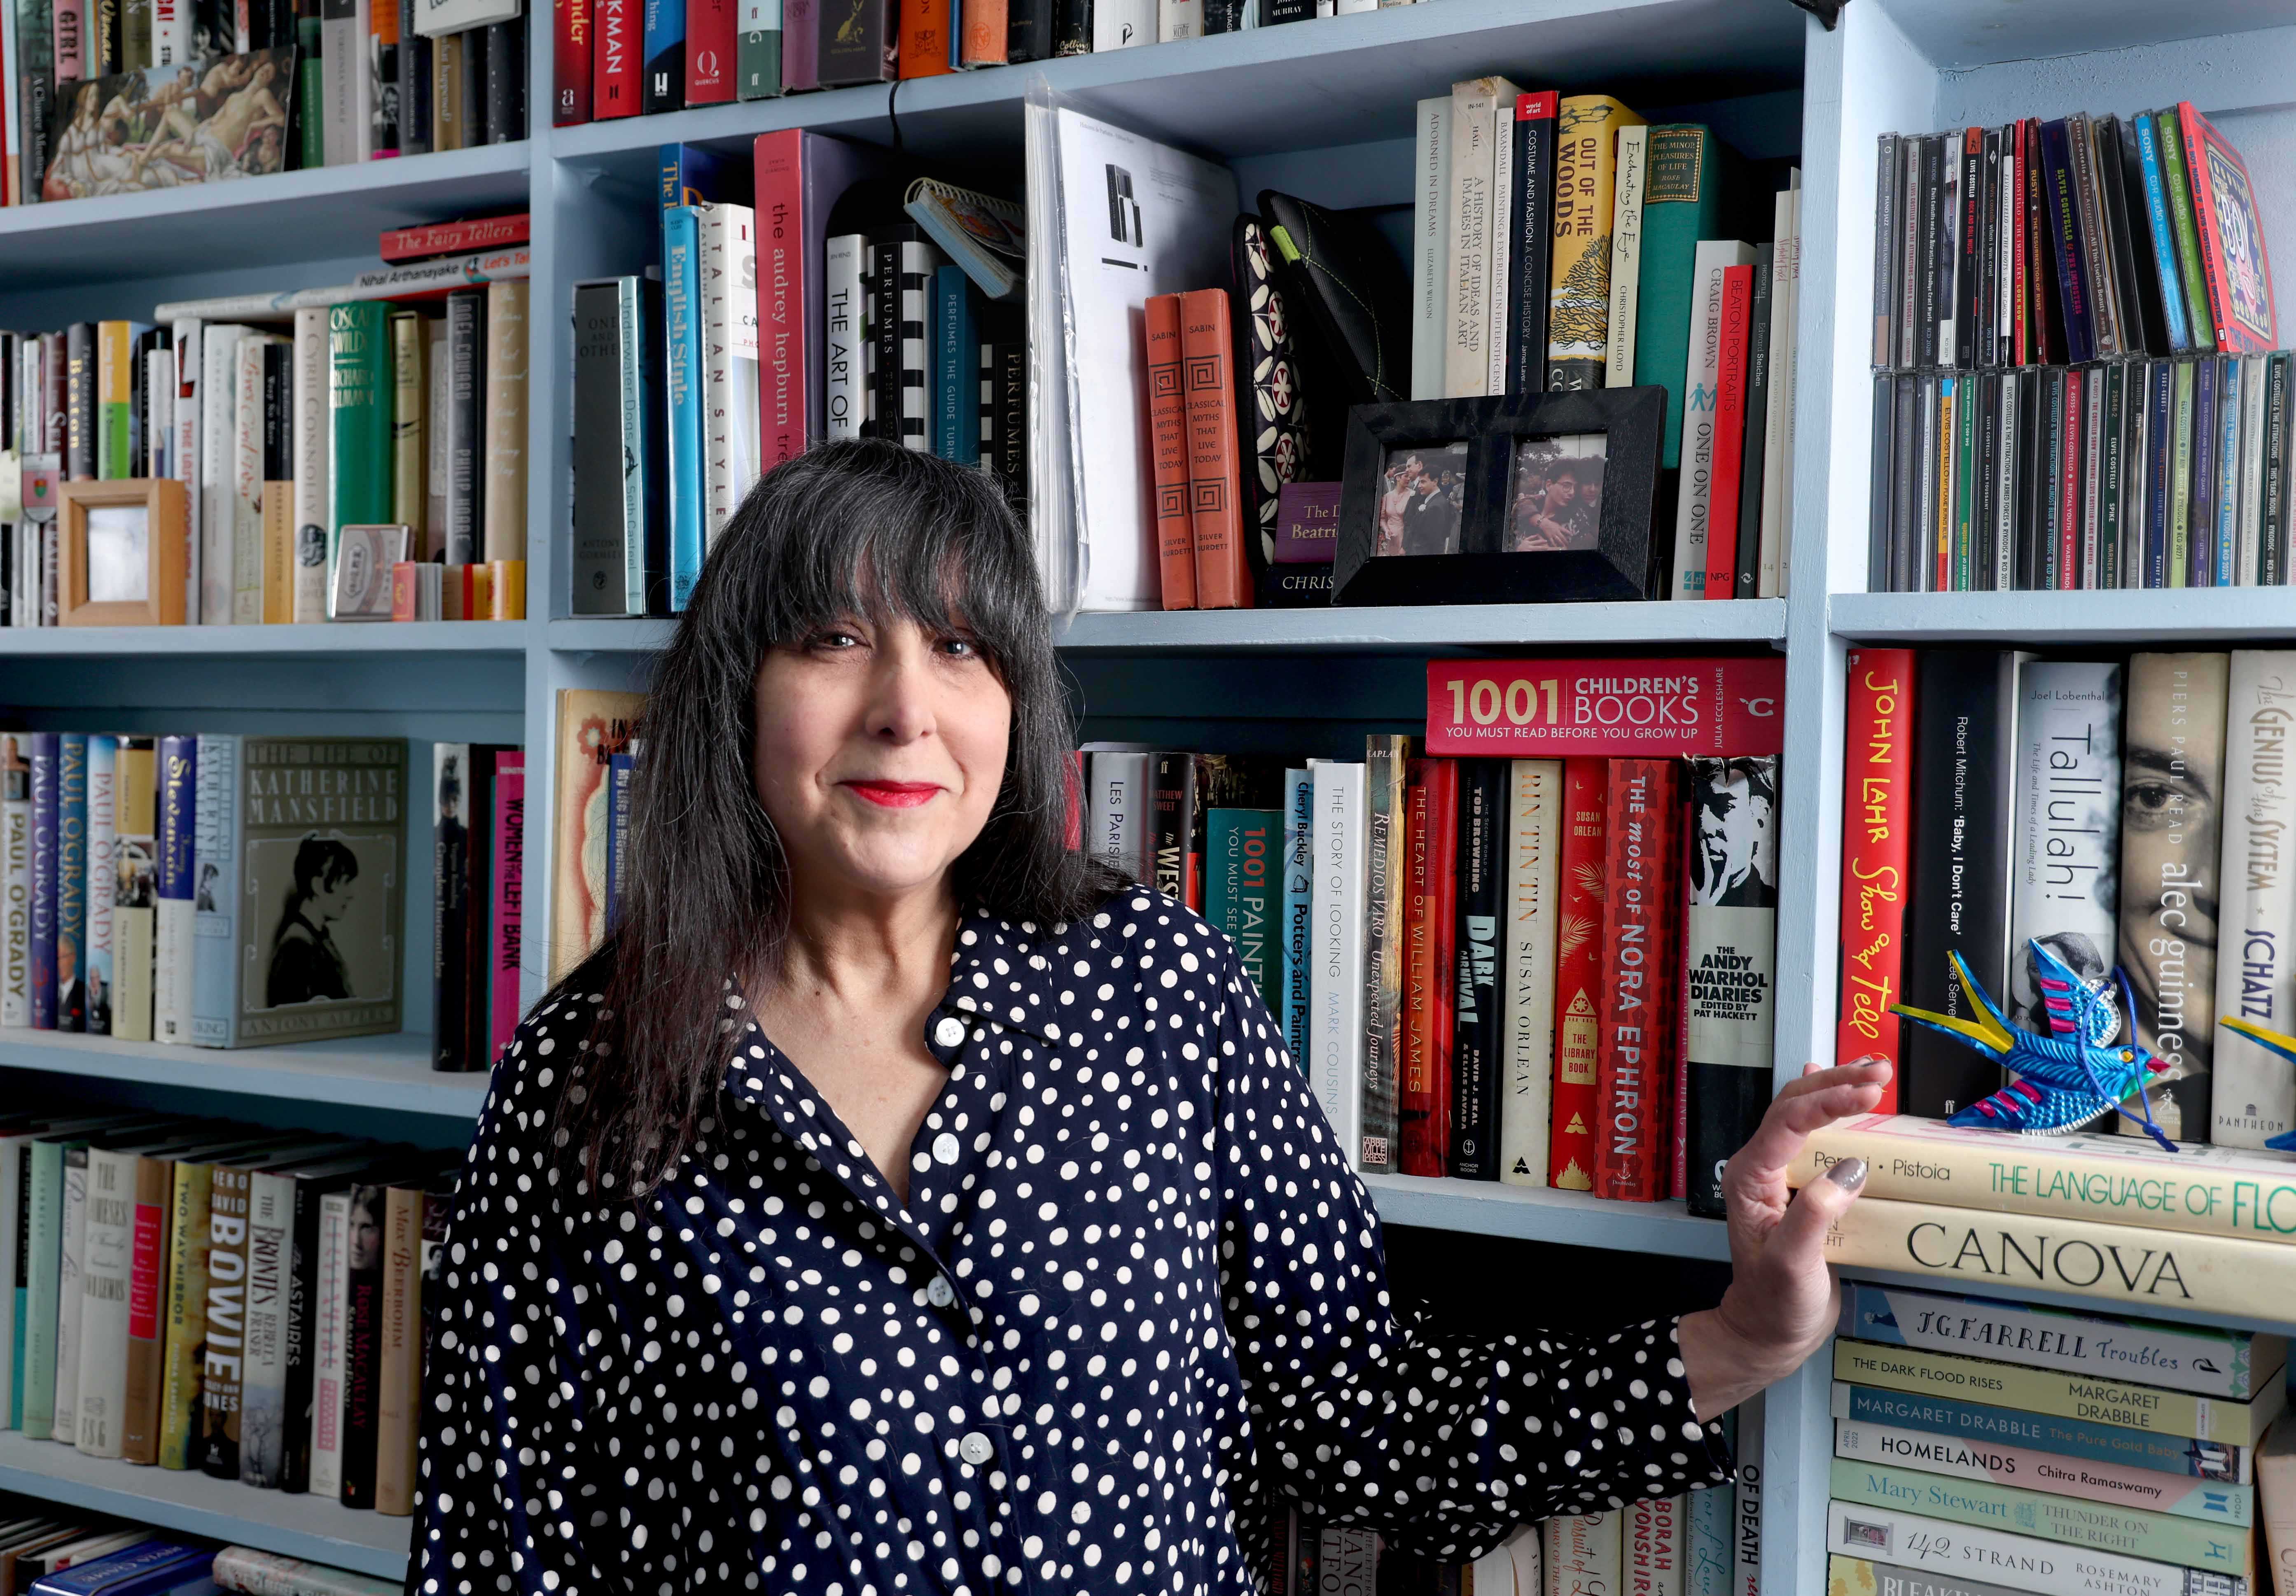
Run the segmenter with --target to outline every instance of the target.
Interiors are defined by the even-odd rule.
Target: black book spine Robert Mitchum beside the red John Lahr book
[[[2016,792],[2011,650],[1922,650],[1915,664],[1913,893],[1901,983],[1910,1008],[1970,1017],[1958,953],[1979,990],[2007,990]],[[1906,1026],[1899,1111],[1945,1118],[2000,1088],[2000,1066],[1952,1036]]]

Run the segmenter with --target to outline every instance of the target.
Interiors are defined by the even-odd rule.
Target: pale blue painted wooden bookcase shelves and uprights
[[[1789,661],[1777,951],[1779,1079],[1830,1059],[1841,813],[1841,664],[1853,643],[2000,641],[2229,645],[2296,638],[2296,595],[1871,595],[1867,372],[1874,140],[2011,115],[2133,110],[2193,99],[2257,175],[2280,282],[2296,289],[2296,28],[2268,0],[1853,0],[1825,30],[1786,0],[1426,0],[1357,16],[1024,69],[712,106],[666,117],[542,126],[551,53],[530,53],[533,138],[455,154],[0,211],[0,326],[138,317],[168,299],[344,282],[383,227],[466,211],[533,211],[528,611],[519,622],[0,629],[0,705],[32,726],[122,730],[351,730],[523,739],[530,834],[526,997],[544,987],[553,696],[643,687],[666,622],[567,613],[569,289],[654,250],[654,152],[744,149],[806,126],[893,145],[951,175],[1017,175],[1022,106],[1042,78],[1084,108],[1238,168],[1249,200],[1283,186],[1341,207],[1405,207],[1412,101],[1504,71],[1522,85],[1605,90],[1653,117],[1711,122],[1750,156],[1802,168],[1795,540],[1786,599],[1729,604],[1456,606],[1079,615],[1061,629],[1088,737],[1164,746],[1341,753],[1366,730],[1412,730],[1430,654],[1763,652]],[[2285,315],[2296,296],[2280,294]],[[411,859],[427,859],[427,815]],[[445,1144],[466,1134],[482,1077],[425,1068],[429,875],[406,882],[409,1031],[358,1043],[200,1052],[0,1033],[9,1093],[80,1086],[106,1100],[273,1118],[388,1121]],[[404,1128],[420,1128],[406,1132]],[[1396,1226],[1607,1249],[1616,1279],[1727,1258],[1720,1224],[1678,1203],[1373,1178]],[[1883,1277],[1887,1279],[1887,1277]],[[1593,1288],[1603,1291],[1600,1277]],[[2027,1295],[2027,1293],[2020,1293]],[[2037,1300],[2057,1300],[2037,1295]],[[2177,1318],[2174,1311],[2161,1311]],[[2296,1304],[2289,1307],[2296,1323]],[[2273,1325],[2287,1327],[2287,1325]],[[1823,1589],[1823,1359],[1770,1392],[1766,1596]],[[406,1520],[227,1481],[90,1463],[0,1435],[0,1488],[397,1575]]]

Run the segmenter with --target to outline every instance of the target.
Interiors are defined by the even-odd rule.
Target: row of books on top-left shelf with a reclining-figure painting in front
[[[519,11],[521,0],[9,0],[0,197],[76,200],[517,142]]]

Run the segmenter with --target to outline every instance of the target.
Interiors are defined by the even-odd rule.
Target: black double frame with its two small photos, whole
[[[1334,604],[1655,599],[1665,388],[1357,404]]]

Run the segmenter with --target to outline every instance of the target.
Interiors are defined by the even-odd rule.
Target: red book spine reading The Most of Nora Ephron
[[[1612,760],[1603,866],[1600,1125],[1593,1194],[1655,1203],[1667,1192],[1667,1088],[1681,1026],[1683,772]]]

